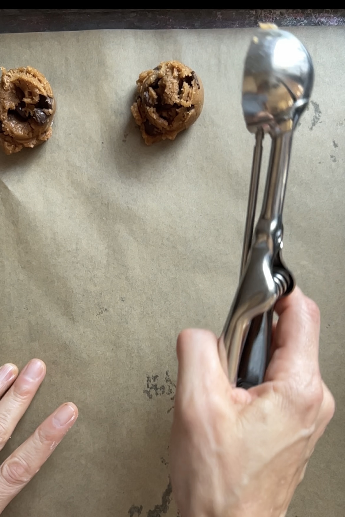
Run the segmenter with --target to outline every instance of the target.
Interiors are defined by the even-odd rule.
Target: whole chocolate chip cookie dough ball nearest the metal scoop
[[[137,99],[131,112],[147,145],[174,140],[202,111],[201,80],[196,72],[178,61],[166,61],[154,70],[142,72],[137,85]]]

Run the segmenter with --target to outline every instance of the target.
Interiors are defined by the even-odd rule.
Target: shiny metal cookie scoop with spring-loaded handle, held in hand
[[[310,55],[292,34],[259,29],[246,57],[242,108],[256,134],[241,276],[219,346],[225,346],[229,380],[249,388],[262,383],[271,343],[273,308],[295,286],[282,261],[282,210],[292,134],[309,102],[314,72]],[[261,213],[253,235],[262,140],[272,138]]]

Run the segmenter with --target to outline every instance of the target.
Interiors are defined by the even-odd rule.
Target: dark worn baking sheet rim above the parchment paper
[[[0,33],[345,25],[345,9],[0,9]]]

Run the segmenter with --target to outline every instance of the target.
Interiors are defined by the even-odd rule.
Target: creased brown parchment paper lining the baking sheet
[[[292,32],[312,55],[316,84],[294,139],[284,257],[320,305],[321,369],[337,413],[289,515],[340,517],[345,33]],[[1,65],[38,68],[57,98],[52,139],[0,155],[1,362],[40,357],[48,368],[0,459],[59,403],[80,410],[6,517],[176,517],[175,339],[186,326],[219,332],[237,283],[253,146],[241,112],[251,34],[0,36]],[[204,110],[175,142],[146,147],[129,107],[139,72],[166,59],[200,75]]]

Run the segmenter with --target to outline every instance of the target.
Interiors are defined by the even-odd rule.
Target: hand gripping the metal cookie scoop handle
[[[217,338],[184,330],[171,437],[182,517],[283,517],[335,404],[319,370],[320,314],[296,288],[276,305],[264,383],[231,387]]]

